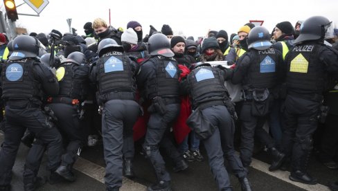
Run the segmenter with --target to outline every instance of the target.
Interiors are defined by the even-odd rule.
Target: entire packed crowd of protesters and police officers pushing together
[[[241,189],[251,190],[256,144],[271,156],[269,171],[290,170],[292,181],[317,184],[308,172],[314,150],[338,169],[338,31],[326,17],[281,21],[272,33],[248,23],[230,38],[209,30],[197,40],[168,24],[150,26],[145,37],[138,21],[126,28],[98,18],[84,24],[83,36],[0,33],[1,191],[11,189],[20,143],[30,147],[27,191],[75,181],[82,147],[100,139],[106,190],[135,176],[137,140],[157,177],[148,191],[171,190],[160,147],[174,172],[207,158],[219,190],[232,190],[224,158]],[[47,180],[37,176],[45,151]]]

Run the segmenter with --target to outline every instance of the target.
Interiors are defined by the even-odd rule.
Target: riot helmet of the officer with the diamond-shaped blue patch
[[[153,34],[148,40],[148,51],[150,55],[163,55],[172,57],[174,53],[170,50],[170,41],[166,35],[161,33]]]

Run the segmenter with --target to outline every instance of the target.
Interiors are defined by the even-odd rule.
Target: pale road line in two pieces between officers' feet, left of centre
[[[87,161],[84,158],[79,157],[78,161],[73,165],[75,170],[90,176],[101,183],[105,183],[105,168],[100,165],[96,165],[95,163],[91,163],[91,161]],[[127,179],[123,176],[122,179],[122,187],[120,191],[139,191],[145,190],[145,185],[141,185],[140,183],[136,183],[130,179]]]

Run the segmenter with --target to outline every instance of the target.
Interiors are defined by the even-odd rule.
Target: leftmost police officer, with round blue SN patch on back
[[[57,95],[59,84],[52,71],[35,58],[39,42],[35,37],[21,35],[13,40],[13,53],[1,73],[3,100],[6,102],[5,141],[0,152],[0,190],[10,190],[12,167],[20,140],[28,128],[46,145],[48,170],[60,165],[62,138],[41,109],[42,94]],[[24,167],[24,189],[34,190],[38,184],[40,161],[35,161],[35,148],[30,149]]]

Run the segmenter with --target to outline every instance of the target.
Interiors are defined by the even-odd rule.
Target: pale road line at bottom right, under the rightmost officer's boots
[[[296,185],[299,188],[303,188],[304,190],[308,191],[330,191],[330,189],[326,185],[322,185],[320,183],[317,183],[316,185],[308,185],[305,183],[299,183],[295,181],[291,181],[289,179],[290,172],[288,171],[282,171],[282,170],[276,170],[274,172],[270,172],[269,164],[264,163],[262,161],[258,161],[255,158],[252,158],[251,167],[255,168],[256,170],[259,170],[261,172],[265,172],[266,174],[269,174],[271,176],[276,177],[277,179],[281,179],[282,181],[285,181],[287,183],[290,183],[292,185]]]

